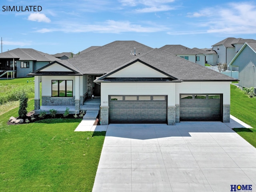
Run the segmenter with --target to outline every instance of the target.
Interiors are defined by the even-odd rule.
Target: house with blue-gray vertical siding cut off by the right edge
[[[231,68],[238,67],[239,87],[256,89],[256,42],[246,42],[230,62]]]

